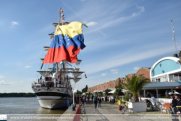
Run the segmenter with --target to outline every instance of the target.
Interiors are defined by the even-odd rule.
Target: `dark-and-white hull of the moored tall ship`
[[[38,102],[42,108],[48,109],[58,109],[65,108],[72,104],[73,98],[70,95],[71,91],[68,91],[68,100],[67,100],[67,89],[51,88],[51,90],[39,90],[33,89]]]

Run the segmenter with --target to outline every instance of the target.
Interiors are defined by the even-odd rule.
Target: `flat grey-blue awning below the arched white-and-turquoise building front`
[[[144,89],[177,89],[181,88],[181,81],[175,82],[153,82],[145,85]]]

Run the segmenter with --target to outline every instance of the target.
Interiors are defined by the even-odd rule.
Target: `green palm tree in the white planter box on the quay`
[[[139,102],[138,95],[143,86],[149,83],[149,79],[142,76],[126,77],[127,83],[123,83],[123,87],[133,95],[133,102]]]

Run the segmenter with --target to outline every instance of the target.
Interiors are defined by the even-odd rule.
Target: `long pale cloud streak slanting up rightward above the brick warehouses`
[[[160,46],[162,46],[162,48],[160,48]],[[88,74],[93,74],[93,73],[103,71],[109,68],[114,68],[117,66],[133,63],[136,61],[156,57],[163,54],[168,54],[170,52],[175,51],[173,47],[169,47],[168,45],[164,45],[163,43],[161,45],[157,43],[156,46],[149,45],[149,47],[148,46],[146,47],[147,49],[145,48],[140,48],[140,50],[133,49],[127,53],[123,52],[123,54],[121,55],[112,55],[110,59],[107,59],[107,56],[102,57],[102,60],[105,60],[105,61],[96,60],[96,62],[92,62],[93,64],[88,64],[86,68],[88,68],[89,70],[86,72]],[[152,48],[155,48],[155,49],[152,49]],[[178,46],[178,48],[181,48],[181,46]],[[112,69],[111,72],[116,73],[117,71],[116,69]]]

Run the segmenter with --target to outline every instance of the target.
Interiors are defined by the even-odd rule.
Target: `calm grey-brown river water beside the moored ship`
[[[0,114],[62,114],[65,110],[41,108],[36,97],[0,98]]]

